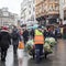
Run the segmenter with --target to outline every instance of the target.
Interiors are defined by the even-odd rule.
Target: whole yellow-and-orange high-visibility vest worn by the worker
[[[38,30],[35,30],[34,44],[44,44],[43,33]]]

